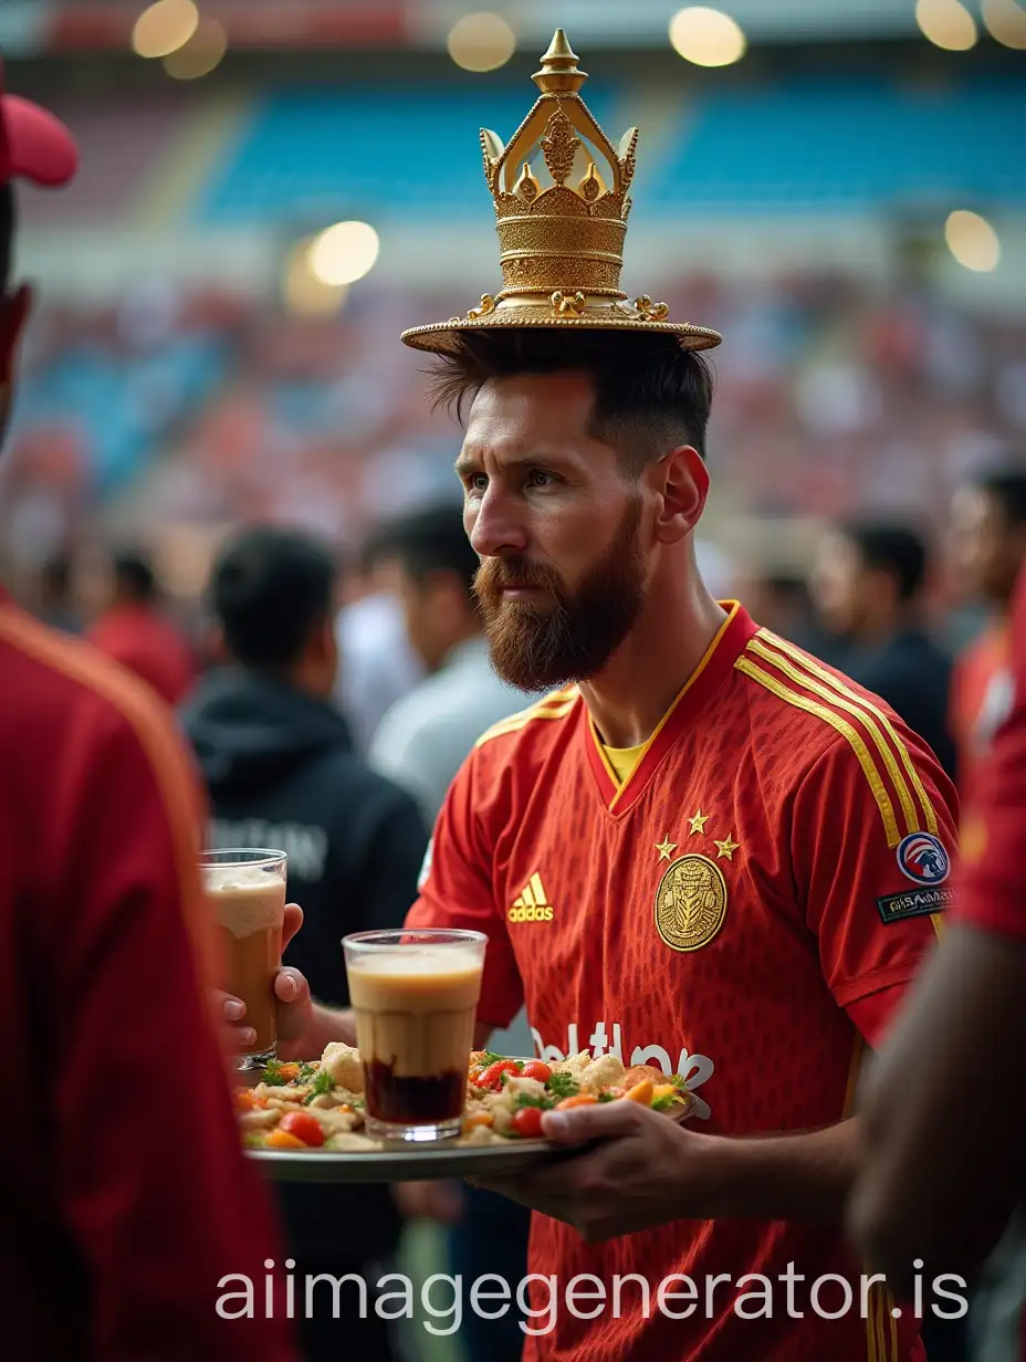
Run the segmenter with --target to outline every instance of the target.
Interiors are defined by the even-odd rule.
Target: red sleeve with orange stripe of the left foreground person
[[[74,828],[41,928],[55,1194],[87,1264],[87,1351],[286,1362],[285,1324],[217,1312],[222,1278],[259,1283],[281,1256],[202,972],[188,767],[164,712],[132,708],[104,707],[68,746]]]

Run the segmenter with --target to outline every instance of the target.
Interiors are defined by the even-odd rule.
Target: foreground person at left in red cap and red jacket
[[[63,185],[76,162],[63,124],[0,95],[0,430],[31,308],[11,181]],[[22,1084],[0,1130],[5,1336],[33,1362],[292,1362],[283,1323],[218,1310],[233,1273],[263,1302],[279,1252],[210,1007],[170,712],[0,591],[0,1035]]]

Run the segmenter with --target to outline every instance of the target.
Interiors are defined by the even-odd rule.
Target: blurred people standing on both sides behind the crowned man
[[[946,519],[937,542],[894,516],[838,520],[804,577],[737,586],[758,622],[892,704],[967,797],[1004,703],[1008,610],[1026,563],[1026,459],[1007,451],[965,477]],[[476,568],[447,497],[386,518],[354,556],[304,528],[234,528],[217,545],[188,628],[136,548],[93,573],[91,603],[68,560],[35,579],[31,603],[46,622],[84,633],[177,707],[210,799],[210,843],[287,850],[289,893],[307,926],[286,962],[324,1001],[347,1002],[341,936],[397,925],[416,898],[433,820],[476,738],[530,701],[491,669]],[[965,647],[952,647],[932,606],[942,569],[978,610]],[[526,1020],[495,1046],[531,1053]],[[527,1215],[484,1192],[417,1184],[394,1199],[383,1188],[296,1186],[282,1211],[290,1252],[309,1272],[388,1260],[410,1218],[443,1227],[454,1272],[523,1271]],[[367,1227],[346,1239],[343,1260],[341,1218]],[[308,1357],[334,1357],[337,1325],[305,1327]],[[358,1327],[375,1358],[399,1347],[373,1313]],[[515,1316],[474,1317],[459,1347],[471,1362],[499,1362],[519,1357],[520,1343]],[[950,1337],[935,1348],[931,1358],[961,1355]]]

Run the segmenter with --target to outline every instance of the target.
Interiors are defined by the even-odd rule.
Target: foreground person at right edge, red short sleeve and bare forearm
[[[1003,1234],[1006,1254],[1018,1244],[1022,1264],[1026,571],[1007,654],[1006,699],[977,772],[977,802],[966,810],[950,926],[890,1028],[862,1096],[865,1163],[849,1223],[873,1269],[899,1288],[912,1284],[914,1264],[924,1280],[955,1272],[971,1282]],[[961,1111],[959,1094],[970,1103]],[[1018,1279],[1021,1301],[1021,1267]],[[1026,1358],[1023,1318],[1015,1355]]]

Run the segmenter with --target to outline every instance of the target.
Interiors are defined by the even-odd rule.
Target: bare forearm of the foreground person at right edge
[[[869,1071],[849,1223],[895,1284],[967,1278],[1023,1196],[1023,998],[1026,941],[954,923]]]

